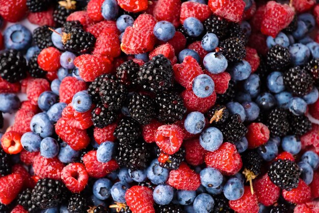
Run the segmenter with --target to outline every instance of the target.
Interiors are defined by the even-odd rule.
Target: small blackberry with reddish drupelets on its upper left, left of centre
[[[93,125],[97,128],[106,127],[117,119],[117,113],[102,104],[97,104],[91,113]]]

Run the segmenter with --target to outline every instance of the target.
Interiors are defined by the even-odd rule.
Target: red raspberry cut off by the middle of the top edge
[[[153,15],[158,21],[170,21],[175,27],[178,27],[180,7],[180,0],[158,0]]]

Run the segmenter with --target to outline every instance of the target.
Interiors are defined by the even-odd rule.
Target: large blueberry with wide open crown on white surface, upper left
[[[26,50],[32,42],[32,33],[26,27],[15,24],[4,32],[4,44],[6,49]]]

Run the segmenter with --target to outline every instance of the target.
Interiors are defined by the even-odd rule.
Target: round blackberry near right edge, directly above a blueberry
[[[300,66],[292,67],[286,71],[283,76],[283,83],[286,89],[291,91],[295,96],[304,96],[313,87],[311,76]]]

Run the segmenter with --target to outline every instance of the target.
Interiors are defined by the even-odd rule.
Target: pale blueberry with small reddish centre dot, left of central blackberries
[[[72,98],[72,106],[77,112],[87,112],[92,107],[92,98],[87,90],[76,92]]]

